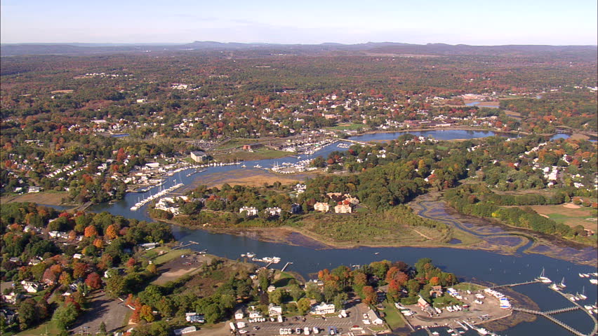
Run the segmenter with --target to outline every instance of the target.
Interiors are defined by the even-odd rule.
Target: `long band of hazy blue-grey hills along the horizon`
[[[596,45],[449,45],[428,43],[426,45],[368,42],[357,44],[321,43],[321,44],[277,44],[277,43],[222,43],[216,41],[194,41],[186,44],[148,43],[22,43],[0,45],[0,56],[16,55],[81,55],[119,52],[164,52],[182,50],[258,50],[259,55],[272,52],[367,52],[368,54],[424,54],[424,55],[500,55],[500,54],[536,54],[585,52],[594,55]]]

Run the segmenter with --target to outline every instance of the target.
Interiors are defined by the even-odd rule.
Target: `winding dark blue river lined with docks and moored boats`
[[[420,133],[420,134],[418,134]],[[395,139],[402,132],[396,133],[382,133],[382,134],[365,134],[351,139],[358,141],[371,140],[387,140]],[[412,134],[424,135],[434,137],[436,139],[472,139],[475,137],[489,137],[494,135],[493,132],[479,132],[479,131],[463,131],[463,130],[443,130],[443,131],[423,131],[413,132]],[[381,139],[383,138],[383,139]],[[243,168],[239,165],[223,166],[223,167],[209,167],[206,172],[186,176],[192,169],[180,172],[171,176],[164,184],[165,188],[173,186],[175,183],[201,183],[202,176],[207,174],[234,174],[239,172],[239,169],[258,169],[255,165],[262,167],[272,167],[272,165],[283,162],[297,162],[307,158],[314,158],[318,155],[326,157],[332,151],[345,151],[343,148],[338,148],[338,144],[331,144],[326,148],[321,149],[314,155],[301,155],[301,158],[286,157],[276,160],[257,160],[244,162],[247,166]],[[263,172],[260,172],[263,174]],[[269,173],[270,174],[270,173]],[[176,181],[174,181],[176,179]],[[89,208],[90,211],[100,212],[108,211],[114,215],[121,215],[126,218],[136,218],[142,221],[151,221],[147,216],[147,205],[138,211],[131,211],[130,207],[137,202],[138,197],[147,197],[156,190],[150,190],[147,193],[128,193],[124,200],[114,204],[99,204]],[[420,258],[432,258],[434,265],[438,265],[441,269],[447,272],[453,272],[460,276],[461,280],[479,280],[489,281],[492,283],[514,283],[522,281],[530,281],[538,276],[543,268],[545,268],[546,275],[554,281],[561,281],[565,277],[566,292],[576,293],[581,292],[585,288],[585,294],[589,297],[585,304],[594,304],[597,297],[597,286],[592,285],[587,278],[581,279],[578,273],[597,272],[596,267],[589,267],[585,265],[576,265],[573,262],[558,260],[550,258],[545,255],[534,253],[522,253],[524,248],[519,248],[514,255],[503,255],[500,253],[492,253],[488,251],[465,250],[459,248],[368,248],[359,247],[351,249],[327,248],[322,249],[319,244],[305,244],[303,246],[293,246],[288,244],[277,244],[265,241],[258,241],[249,237],[238,235],[227,235],[206,232],[204,230],[192,230],[178,226],[172,227],[173,234],[178,241],[197,241],[199,245],[192,245],[198,251],[207,249],[208,253],[219,255],[225,258],[237,259],[241,258],[241,253],[253,252],[258,257],[272,257],[278,256],[281,262],[274,265],[275,268],[284,267],[286,262],[293,262],[293,265],[288,267],[288,270],[298,272],[304,277],[312,275],[319,269],[332,269],[338,265],[364,265],[376,260],[403,260],[410,265]],[[299,235],[295,235],[298,242],[302,241]],[[552,292],[545,285],[531,284],[526,286],[515,287],[519,293],[523,293],[531,297],[541,310],[556,309],[562,307],[571,307],[571,302],[564,299],[561,295]],[[556,316],[562,319],[565,323],[574,326],[581,332],[588,333],[592,330],[593,322],[583,313],[583,311],[573,311],[571,313],[559,314]],[[553,324],[545,318],[539,317],[536,321],[531,323],[520,323],[514,328],[500,332],[501,335],[570,335],[569,332]],[[425,333],[418,332],[417,335],[425,335]],[[468,332],[468,335],[469,334]]]

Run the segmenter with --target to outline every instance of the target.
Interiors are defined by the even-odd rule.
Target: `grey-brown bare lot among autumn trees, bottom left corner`
[[[107,332],[114,331],[126,325],[125,318],[132,310],[118,299],[112,299],[103,292],[93,293],[90,297],[91,308],[75,323],[72,331],[81,330],[95,335],[100,331],[100,323],[106,323]],[[86,329],[87,328],[87,329]]]

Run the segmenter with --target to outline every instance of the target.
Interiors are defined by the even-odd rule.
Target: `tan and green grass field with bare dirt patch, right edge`
[[[565,207],[567,204],[559,205],[535,205],[531,209],[538,214],[546,216],[552,221],[569,225],[571,228],[582,225],[588,230],[598,231],[598,222],[596,221],[596,210],[592,208],[579,207],[572,209]]]

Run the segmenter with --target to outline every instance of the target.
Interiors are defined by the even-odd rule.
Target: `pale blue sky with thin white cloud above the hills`
[[[597,0],[0,0],[0,42],[597,45],[597,13]]]

